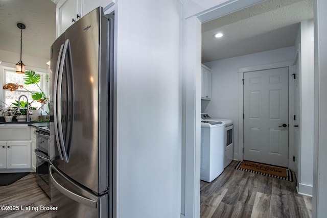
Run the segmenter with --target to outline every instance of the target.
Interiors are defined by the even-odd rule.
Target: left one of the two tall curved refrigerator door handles
[[[61,146],[60,146],[60,140],[59,140],[59,133],[58,133],[58,108],[57,108],[57,93],[58,93],[58,77],[59,77],[59,69],[61,68],[62,63],[62,52],[63,52],[63,47],[64,45],[61,44],[60,46],[60,51],[59,51],[59,55],[58,55],[58,62],[57,62],[57,66],[56,66],[56,72],[55,72],[55,81],[54,81],[54,110],[53,110],[53,115],[54,115],[54,124],[55,124],[55,138],[56,138],[56,142],[57,142],[57,148],[58,148],[58,152],[59,152],[59,156],[60,159],[63,160],[63,152],[61,150]]]

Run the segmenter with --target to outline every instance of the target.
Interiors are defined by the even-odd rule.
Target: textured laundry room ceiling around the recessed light
[[[269,0],[202,24],[202,62],[293,46],[312,0]],[[225,36],[213,38],[217,32]]]

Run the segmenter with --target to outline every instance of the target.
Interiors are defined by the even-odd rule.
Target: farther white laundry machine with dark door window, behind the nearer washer
[[[234,125],[231,119],[211,118],[207,113],[201,113],[201,120],[222,122],[225,127],[224,133],[224,168],[233,160],[233,141],[234,141]]]

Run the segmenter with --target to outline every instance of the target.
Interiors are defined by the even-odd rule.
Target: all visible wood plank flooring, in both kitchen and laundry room
[[[233,161],[213,182],[201,181],[200,217],[311,217],[311,198],[296,193],[288,182],[235,169]],[[50,199],[31,173],[17,182],[0,186],[0,205],[48,206]],[[0,217],[51,217],[48,211],[3,211]]]

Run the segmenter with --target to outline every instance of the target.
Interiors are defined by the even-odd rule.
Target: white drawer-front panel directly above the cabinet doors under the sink
[[[29,126],[0,126],[1,140],[30,140],[30,127]]]

